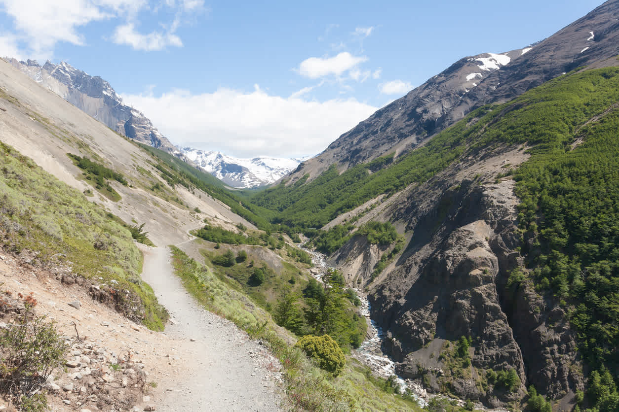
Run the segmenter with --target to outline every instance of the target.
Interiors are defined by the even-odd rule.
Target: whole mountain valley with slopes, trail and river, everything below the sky
[[[0,60],[2,405],[618,411],[618,19],[306,159],[181,149],[100,77]]]

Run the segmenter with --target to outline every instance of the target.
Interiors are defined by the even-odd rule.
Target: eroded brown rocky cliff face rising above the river
[[[383,350],[397,372],[435,392],[500,406],[535,385],[568,401],[584,389],[582,364],[566,314],[532,284],[510,279],[522,267],[514,181],[496,182],[504,166],[528,158],[521,147],[477,153],[423,185],[387,198],[365,221],[391,221],[407,233],[404,253],[378,279],[381,254],[353,237],[331,256],[350,284],[370,286],[373,317],[386,332]],[[454,342],[470,337],[470,366]],[[514,369],[514,391],[488,383],[487,373]]]

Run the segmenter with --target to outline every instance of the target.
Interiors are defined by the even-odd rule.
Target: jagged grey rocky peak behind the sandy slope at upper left
[[[67,62],[53,64],[47,61],[41,66],[32,60],[6,60],[115,132],[168,153],[180,154],[141,111],[123,104],[121,96],[101,77],[86,74]]]

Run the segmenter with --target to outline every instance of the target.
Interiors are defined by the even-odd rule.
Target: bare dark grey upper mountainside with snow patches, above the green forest
[[[607,1],[532,46],[460,59],[303,162],[289,182],[305,174],[314,179],[331,164],[346,170],[385,154],[400,156],[483,104],[512,99],[576,67],[612,59],[619,54],[617,9],[617,2]]]

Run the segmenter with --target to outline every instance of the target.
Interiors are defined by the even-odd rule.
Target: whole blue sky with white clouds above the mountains
[[[0,50],[105,78],[173,143],[292,157],[461,57],[522,48],[600,4],[0,0]]]

